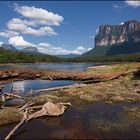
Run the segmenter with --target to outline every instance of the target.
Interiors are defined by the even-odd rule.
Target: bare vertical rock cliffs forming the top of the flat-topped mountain
[[[123,25],[102,25],[95,37],[95,46],[111,46],[140,41],[140,22],[130,20]]]

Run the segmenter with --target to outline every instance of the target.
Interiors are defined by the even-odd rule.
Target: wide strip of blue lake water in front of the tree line
[[[49,70],[73,70],[73,71],[84,71],[88,67],[96,66],[99,64],[94,63],[40,63],[40,64],[9,64],[0,65],[0,70],[9,69],[49,69]]]

